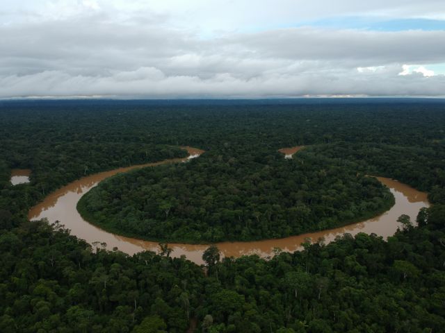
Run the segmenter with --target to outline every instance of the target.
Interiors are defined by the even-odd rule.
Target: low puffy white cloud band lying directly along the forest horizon
[[[397,67],[400,70],[400,67]],[[159,69],[140,68],[106,76],[71,76],[63,71],[44,71],[27,76],[0,78],[7,87],[3,96],[127,96],[171,97],[264,97],[264,96],[441,96],[445,80],[423,76],[397,76],[396,70],[369,74],[366,80],[344,72],[303,72],[300,75],[262,74],[237,78],[229,73],[199,76],[166,76]]]

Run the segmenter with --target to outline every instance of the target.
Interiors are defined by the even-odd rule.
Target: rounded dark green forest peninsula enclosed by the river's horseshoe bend
[[[334,228],[394,203],[378,180],[357,174],[355,163],[310,147],[294,160],[283,157],[270,152],[264,164],[255,152],[245,160],[223,146],[193,162],[109,178],[83,196],[78,210],[118,234],[217,242]]]

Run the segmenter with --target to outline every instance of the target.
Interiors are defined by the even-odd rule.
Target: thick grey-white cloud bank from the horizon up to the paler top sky
[[[202,33],[165,12],[103,6],[3,13],[0,97],[445,95],[445,76],[429,67],[445,62],[445,31]]]

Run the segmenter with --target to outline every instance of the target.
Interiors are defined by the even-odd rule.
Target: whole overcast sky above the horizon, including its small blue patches
[[[444,0],[0,0],[0,98],[445,96]]]

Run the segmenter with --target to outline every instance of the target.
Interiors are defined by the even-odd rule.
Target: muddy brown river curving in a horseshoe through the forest
[[[29,211],[29,219],[48,219],[49,223],[54,221],[60,221],[65,228],[71,230],[71,234],[85,239],[88,243],[92,244],[95,241],[105,242],[108,249],[117,247],[119,250],[129,255],[138,253],[143,250],[152,250],[157,252],[159,250],[158,242],[156,241],[143,241],[140,239],[133,239],[130,237],[123,237],[118,234],[112,234],[106,232],[95,225],[84,221],[79,212],[76,210],[76,205],[81,196],[86,194],[92,187],[95,187],[100,181],[105,178],[111,177],[116,173],[126,172],[132,169],[138,169],[141,167],[154,167],[160,164],[186,162],[187,160],[199,156],[203,153],[202,150],[183,147],[185,148],[189,156],[186,158],[176,158],[172,160],[165,160],[161,162],[140,164],[127,168],[115,169],[112,171],[105,171],[97,173],[92,176],[87,176],[76,180],[69,185],[58,189],[53,192],[42,203],[36,205]],[[288,157],[289,158],[289,157]],[[218,243],[223,255],[228,257],[240,257],[241,255],[248,255],[257,253],[261,257],[268,257],[273,255],[273,248],[282,248],[284,251],[293,252],[298,250],[300,244],[308,237],[312,241],[316,241],[321,237],[324,237],[326,242],[332,241],[335,237],[344,234],[346,232],[350,234],[357,234],[359,232],[366,232],[368,234],[375,233],[382,237],[388,237],[396,232],[398,223],[397,218],[401,214],[407,214],[413,221],[416,219],[416,215],[421,207],[428,207],[427,194],[421,191],[416,191],[412,187],[402,184],[396,180],[389,178],[378,177],[378,180],[384,185],[389,187],[391,193],[396,198],[395,205],[384,214],[359,223],[353,223],[341,228],[323,230],[320,232],[311,232],[308,234],[300,234],[298,236],[286,237],[283,239],[268,239],[264,241],[249,241],[249,242],[223,242]],[[192,260],[197,264],[202,264],[202,253],[208,247],[207,245],[193,245],[193,244],[169,244],[172,248],[172,256],[180,257],[186,255],[187,259]]]

